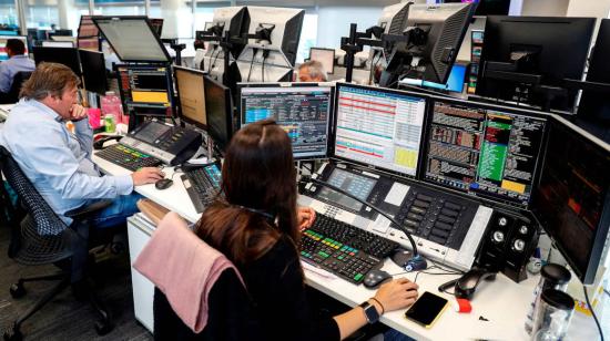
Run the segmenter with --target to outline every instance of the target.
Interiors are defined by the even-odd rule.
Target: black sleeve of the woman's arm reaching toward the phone
[[[247,270],[268,340],[339,340],[336,321],[316,313],[307,298],[296,249],[282,238]]]

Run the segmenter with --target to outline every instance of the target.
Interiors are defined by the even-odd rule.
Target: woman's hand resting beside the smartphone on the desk
[[[382,285],[375,293],[375,300],[370,300],[375,304],[379,314],[382,312],[394,311],[410,307],[417,299],[418,285],[406,278],[395,279],[390,282]],[[383,307],[379,307],[382,303]]]

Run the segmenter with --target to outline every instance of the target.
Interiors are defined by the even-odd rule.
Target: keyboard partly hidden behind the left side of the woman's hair
[[[197,213],[202,213],[218,196],[221,169],[216,164],[185,172],[181,179]]]

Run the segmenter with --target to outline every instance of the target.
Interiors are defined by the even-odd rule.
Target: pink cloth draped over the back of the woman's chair
[[[207,297],[221,273],[234,269],[243,283],[235,266],[173,211],[161,220],[133,267],[165,293],[174,312],[195,333],[207,323]]]

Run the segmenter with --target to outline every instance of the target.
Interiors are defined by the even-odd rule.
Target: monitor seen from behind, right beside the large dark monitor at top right
[[[403,34],[392,50],[380,85],[393,86],[408,75],[446,83],[471,18],[471,3],[411,4]]]

